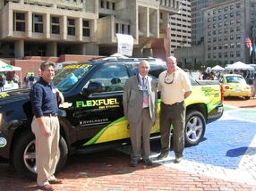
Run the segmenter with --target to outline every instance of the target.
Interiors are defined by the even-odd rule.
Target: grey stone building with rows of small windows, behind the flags
[[[245,37],[252,38],[256,0],[232,0],[204,10],[205,61],[251,63]]]

